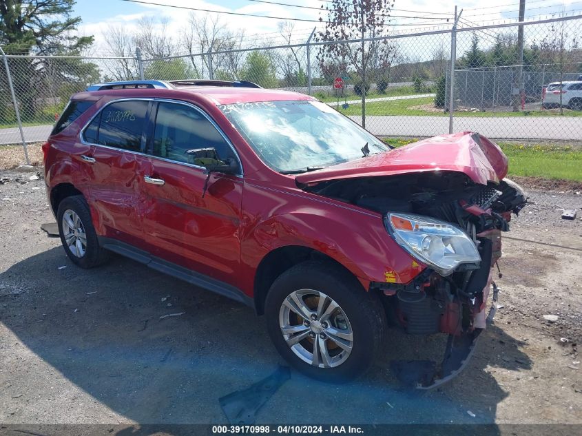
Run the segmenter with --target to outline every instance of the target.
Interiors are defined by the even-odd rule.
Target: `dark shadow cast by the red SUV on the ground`
[[[1,322],[56,371],[43,371],[36,357],[17,360],[21,367],[14,369],[28,371],[29,380],[39,383],[62,375],[126,421],[224,424],[218,398],[284,364],[271,346],[264,319],[253,309],[118,256],[83,270],[56,247],[14,264],[0,274],[0,283],[5,289]],[[174,316],[160,319],[164,315]],[[383,361],[355,382],[324,384],[292,371],[291,380],[258,413],[258,424],[491,424],[508,393],[490,368],[523,371],[532,365],[519,341],[493,325],[481,335],[464,373],[420,393],[399,386],[389,360],[431,348],[441,357],[444,350],[440,339],[404,338],[395,333]],[[5,395],[10,398],[10,392]],[[34,422],[20,415],[21,398],[8,402],[17,412],[0,419]],[[75,413],[91,406],[52,407],[71,409],[67,421],[74,422]],[[140,428],[126,427],[118,434],[152,434],[147,426]],[[176,428],[169,434],[181,433]]]

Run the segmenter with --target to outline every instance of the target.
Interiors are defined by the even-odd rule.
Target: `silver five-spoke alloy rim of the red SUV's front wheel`
[[[281,304],[279,326],[291,351],[319,368],[340,366],[353,349],[353,331],[346,313],[320,291],[290,293]]]

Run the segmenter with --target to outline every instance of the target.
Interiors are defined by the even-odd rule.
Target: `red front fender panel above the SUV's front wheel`
[[[246,189],[246,188],[245,188]],[[242,222],[242,267],[256,270],[260,261],[275,249],[286,246],[308,247],[324,253],[351,271],[368,289],[369,282],[408,283],[424,269],[388,235],[380,214],[351,207],[309,193],[278,192],[278,198],[260,191],[245,191],[260,196],[245,212]],[[264,193],[263,193],[264,194]],[[286,195],[287,194],[287,195]],[[267,207],[269,218],[259,211]],[[249,274],[243,274],[249,276]],[[246,284],[251,286],[252,284]]]

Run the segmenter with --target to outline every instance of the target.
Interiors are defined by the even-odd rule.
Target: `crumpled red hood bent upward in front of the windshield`
[[[298,175],[303,185],[341,178],[393,176],[426,171],[457,171],[475,183],[499,183],[508,169],[507,158],[499,145],[473,132],[434,136],[390,152],[352,160]]]

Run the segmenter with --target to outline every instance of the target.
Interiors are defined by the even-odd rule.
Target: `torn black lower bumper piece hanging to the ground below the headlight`
[[[499,288],[495,282],[491,282],[491,287],[493,289],[492,304],[486,324],[490,324],[497,313]],[[463,371],[475,351],[482,331],[484,329],[475,328],[464,335],[448,335],[444,359],[438,366],[436,362],[429,360],[399,360],[392,362],[392,371],[400,382],[417,389],[428,391],[441,386]]]

